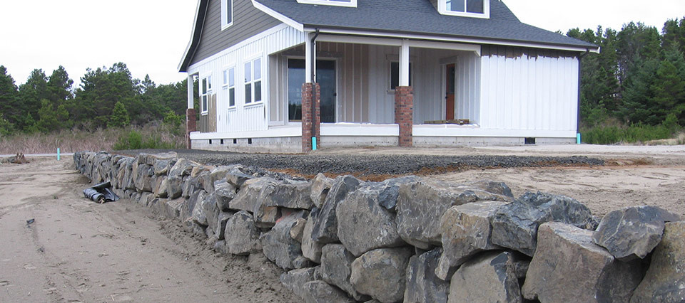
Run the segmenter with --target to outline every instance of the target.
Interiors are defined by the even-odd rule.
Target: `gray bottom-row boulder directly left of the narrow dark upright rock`
[[[412,248],[381,248],[352,262],[350,282],[357,292],[380,302],[397,302],[405,294],[405,275]]]

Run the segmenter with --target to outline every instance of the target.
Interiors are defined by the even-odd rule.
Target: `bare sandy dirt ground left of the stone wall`
[[[216,255],[128,201],[86,200],[71,159],[30,160],[0,165],[0,302],[297,301],[263,258]]]

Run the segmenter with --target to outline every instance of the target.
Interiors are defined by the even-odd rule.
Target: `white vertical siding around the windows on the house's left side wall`
[[[223,50],[188,68],[188,73],[212,75],[212,87],[217,93],[217,132],[250,132],[268,129],[269,97],[268,85],[269,55],[304,43],[305,34],[281,24],[236,46]],[[244,63],[255,58],[261,60],[263,102],[245,105]],[[228,109],[228,93],[223,90],[223,70],[235,66],[235,105]],[[278,111],[275,111],[278,112]],[[278,121],[278,118],[275,118]]]

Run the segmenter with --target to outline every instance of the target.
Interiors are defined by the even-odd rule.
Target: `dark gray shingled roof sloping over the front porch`
[[[597,49],[592,43],[522,23],[499,0],[490,0],[490,18],[443,16],[430,0],[357,0],[357,8],[256,0],[305,27],[418,33]],[[542,3],[544,5],[544,3]]]

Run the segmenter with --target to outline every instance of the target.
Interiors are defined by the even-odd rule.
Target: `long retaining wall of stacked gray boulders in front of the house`
[[[685,222],[661,208],[599,220],[572,198],[514,198],[493,181],[305,180],[173,153],[73,159],[215,250],[263,253],[305,302],[685,300]]]

